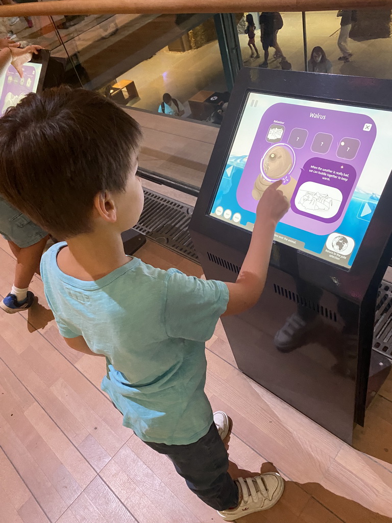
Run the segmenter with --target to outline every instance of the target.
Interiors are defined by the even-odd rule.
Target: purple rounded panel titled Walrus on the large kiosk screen
[[[291,209],[281,221],[330,234],[343,220],[375,138],[375,123],[366,115],[275,104],[260,120],[237,201],[256,212],[263,182],[282,179]],[[273,161],[280,161],[276,176]]]

